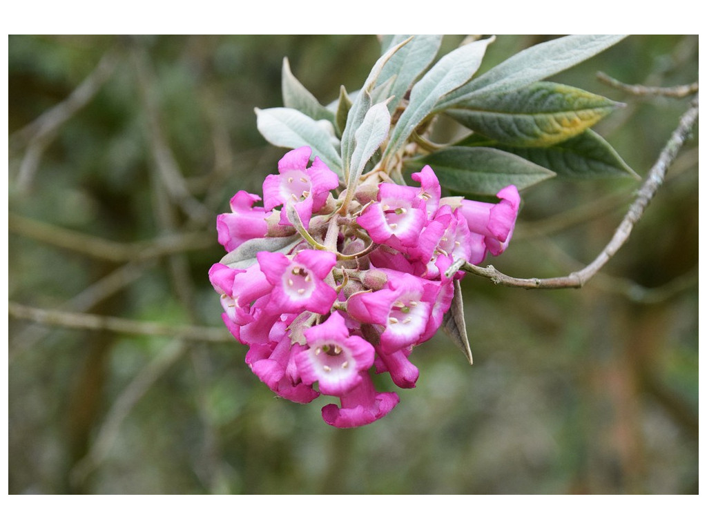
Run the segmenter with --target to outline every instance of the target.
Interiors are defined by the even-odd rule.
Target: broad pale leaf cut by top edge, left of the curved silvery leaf
[[[412,83],[437,56],[442,35],[389,35],[387,37],[382,41],[382,44],[387,46],[385,49],[413,37],[407,46],[387,61],[378,78],[379,83],[393,80],[389,95],[395,96],[395,99],[388,103],[388,110],[393,112]]]

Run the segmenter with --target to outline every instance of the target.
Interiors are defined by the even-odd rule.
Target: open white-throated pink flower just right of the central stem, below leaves
[[[416,245],[427,222],[425,204],[419,190],[384,182],[378,187],[378,202],[369,204],[358,216],[357,223],[368,231],[370,238],[404,252]]]

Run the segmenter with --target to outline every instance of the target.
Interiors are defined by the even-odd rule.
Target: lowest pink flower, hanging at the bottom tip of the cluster
[[[361,427],[380,420],[399,403],[395,392],[376,393],[368,372],[361,372],[361,382],[339,398],[341,407],[329,404],[322,408],[322,418],[337,428]]]

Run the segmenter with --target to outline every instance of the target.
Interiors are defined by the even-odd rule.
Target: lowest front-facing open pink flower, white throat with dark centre
[[[373,346],[359,336],[349,336],[339,312],[304,334],[309,348],[296,353],[295,362],[303,382],[319,382],[322,394],[343,396],[361,383],[359,372],[373,365]]]

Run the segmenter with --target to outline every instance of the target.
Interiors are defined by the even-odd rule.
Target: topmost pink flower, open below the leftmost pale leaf
[[[263,182],[266,211],[282,205],[280,224],[291,225],[286,205],[294,206],[305,229],[312,213],[324,206],[329,192],[339,186],[339,177],[319,157],[307,167],[312,149],[303,146],[286,153],[277,164],[279,175],[268,175]]]

